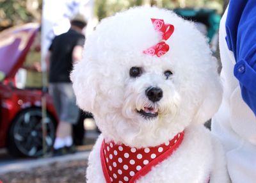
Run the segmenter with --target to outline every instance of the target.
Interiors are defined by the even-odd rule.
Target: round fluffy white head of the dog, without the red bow
[[[150,18],[174,26],[161,57],[143,51],[161,41]],[[155,146],[204,123],[217,111],[216,60],[191,22],[158,8],[134,8],[102,20],[86,40],[71,78],[77,104],[90,111],[107,140]]]

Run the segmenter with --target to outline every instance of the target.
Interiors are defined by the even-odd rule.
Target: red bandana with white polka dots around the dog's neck
[[[157,147],[134,148],[102,141],[100,159],[106,182],[135,182],[179,147],[184,132]]]

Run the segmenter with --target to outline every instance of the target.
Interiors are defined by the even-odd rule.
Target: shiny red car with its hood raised
[[[26,24],[0,33],[0,148],[15,156],[43,155],[42,96],[46,99],[45,146],[51,150],[58,123],[51,97],[39,88],[17,87],[22,67],[38,34],[38,24]]]

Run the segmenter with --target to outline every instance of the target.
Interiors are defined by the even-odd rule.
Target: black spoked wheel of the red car
[[[55,138],[56,122],[51,115],[46,118],[47,152],[52,148]],[[8,151],[15,157],[40,157],[43,151],[42,110],[26,109],[16,116],[9,131]]]

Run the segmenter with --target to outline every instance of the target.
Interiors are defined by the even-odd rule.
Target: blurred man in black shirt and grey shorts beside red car
[[[67,33],[56,36],[47,52],[46,62],[49,70],[49,93],[54,100],[60,122],[54,141],[54,155],[75,152],[72,139],[72,125],[79,118],[79,108],[70,81],[73,64],[82,58],[86,21],[77,15],[70,20]]]

